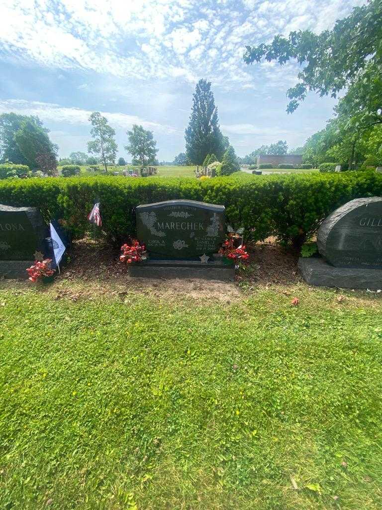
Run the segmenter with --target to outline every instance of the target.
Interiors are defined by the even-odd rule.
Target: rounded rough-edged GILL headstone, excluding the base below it
[[[356,198],[336,209],[320,226],[317,245],[333,266],[382,268],[382,198]]]

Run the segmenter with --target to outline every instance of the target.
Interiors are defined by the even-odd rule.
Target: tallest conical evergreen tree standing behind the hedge
[[[212,153],[220,159],[226,148],[225,138],[220,131],[211,83],[199,80],[185,130],[187,158],[194,165],[202,165],[206,156]]]

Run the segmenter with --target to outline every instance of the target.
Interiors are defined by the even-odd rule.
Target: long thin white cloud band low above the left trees
[[[39,101],[25,101],[23,99],[7,99],[0,101],[0,111],[3,113],[15,112],[21,115],[37,115],[43,121],[63,122],[65,124],[90,125],[90,110],[80,108],[68,108],[52,103],[41,103]],[[131,129],[132,124],[142,124],[145,129],[162,133],[178,133],[172,126],[149,122],[136,115],[125,113],[101,112],[112,127],[119,129]]]

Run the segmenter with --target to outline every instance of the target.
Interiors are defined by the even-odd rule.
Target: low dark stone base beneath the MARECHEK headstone
[[[206,263],[193,260],[147,259],[128,265],[129,275],[144,278],[202,278],[208,280],[233,281],[234,264],[225,264],[221,259]]]

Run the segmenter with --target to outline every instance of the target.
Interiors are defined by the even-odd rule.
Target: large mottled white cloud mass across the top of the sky
[[[256,87],[245,45],[321,31],[364,0],[3,0],[0,51],[59,69]],[[257,68],[258,69],[258,68]],[[283,71],[271,69],[275,75]]]

